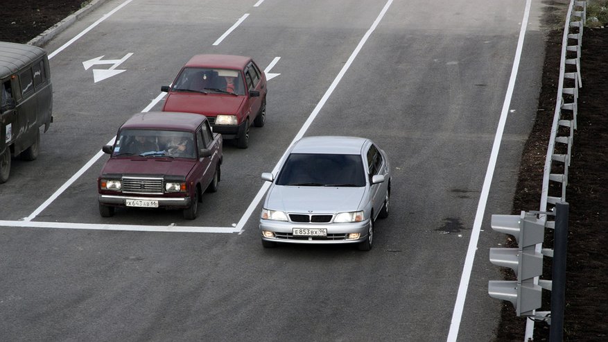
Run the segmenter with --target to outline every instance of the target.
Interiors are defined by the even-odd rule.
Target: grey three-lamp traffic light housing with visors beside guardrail
[[[487,292],[490,297],[509,300],[517,316],[533,316],[541,307],[541,287],[535,277],[543,272],[543,255],[536,251],[545,234],[545,218],[521,212],[518,215],[492,215],[492,229],[515,237],[517,248],[490,248],[492,264],[511,268],[517,280],[490,280]]]

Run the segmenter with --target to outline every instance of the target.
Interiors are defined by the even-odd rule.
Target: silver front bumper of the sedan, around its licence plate
[[[294,236],[293,228],[327,228],[327,237]],[[285,243],[359,243],[367,239],[370,220],[351,223],[294,223],[285,221],[260,220],[260,234],[263,240]],[[266,237],[263,232],[272,232],[274,237]],[[348,239],[351,233],[359,233],[358,239]]]

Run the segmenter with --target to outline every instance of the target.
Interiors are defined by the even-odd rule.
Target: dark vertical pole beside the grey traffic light
[[[568,203],[555,203],[553,232],[553,289],[551,291],[551,325],[549,341],[564,339],[564,306],[566,302],[566,249],[568,246]]]

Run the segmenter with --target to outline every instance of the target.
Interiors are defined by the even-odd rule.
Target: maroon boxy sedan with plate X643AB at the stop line
[[[196,219],[204,191],[220,181],[222,135],[191,113],[137,113],[121,126],[97,180],[99,213],[116,207],[181,209]]]

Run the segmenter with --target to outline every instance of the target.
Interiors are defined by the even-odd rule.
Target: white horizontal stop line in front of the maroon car
[[[68,223],[68,222],[37,222],[37,221],[0,221],[0,226],[26,227],[26,228],[55,228],[55,229],[85,229],[85,230],[129,230],[135,232],[206,232],[206,233],[234,233],[234,227],[196,227],[180,225],[113,225],[95,223]]]

